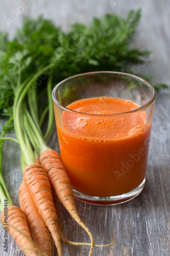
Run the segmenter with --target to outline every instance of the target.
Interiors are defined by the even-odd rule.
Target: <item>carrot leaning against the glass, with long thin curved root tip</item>
[[[91,241],[89,255],[91,255],[94,246],[93,237],[90,230],[82,222],[77,212],[72,186],[64,166],[61,163],[59,154],[53,150],[46,150],[41,153],[39,157],[39,163],[46,170],[50,183],[55,188],[57,197],[59,198],[60,202],[67,209],[71,217],[74,218],[75,221],[88,233]]]

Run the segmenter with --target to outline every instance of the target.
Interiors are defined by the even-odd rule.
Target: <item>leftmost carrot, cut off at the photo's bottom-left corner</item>
[[[8,223],[6,223],[6,219],[4,218],[6,216],[6,212],[5,216],[4,210],[1,214],[1,222],[4,228],[8,230],[26,256],[37,256],[34,244],[31,242],[32,238],[27,224],[27,219],[22,210],[17,206],[9,206],[6,211],[8,212]],[[24,236],[24,234],[26,234],[27,237]]]

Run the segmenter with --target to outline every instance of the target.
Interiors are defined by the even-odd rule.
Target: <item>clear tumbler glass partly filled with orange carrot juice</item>
[[[69,77],[53,90],[62,163],[76,198],[100,205],[143,189],[156,92],[120,72]]]

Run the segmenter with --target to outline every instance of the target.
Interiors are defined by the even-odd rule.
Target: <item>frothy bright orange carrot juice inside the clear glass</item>
[[[61,159],[74,189],[109,197],[128,193],[141,184],[151,124],[145,111],[129,112],[138,108],[131,100],[112,97],[81,99],[67,106],[76,112],[62,113],[57,132]],[[57,120],[56,111],[55,116]]]

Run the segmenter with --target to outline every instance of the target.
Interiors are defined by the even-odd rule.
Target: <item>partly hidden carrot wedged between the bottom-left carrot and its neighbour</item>
[[[34,201],[23,182],[18,189],[19,205],[25,214],[34,242],[47,256],[53,255],[52,239],[45,222],[41,218]]]

